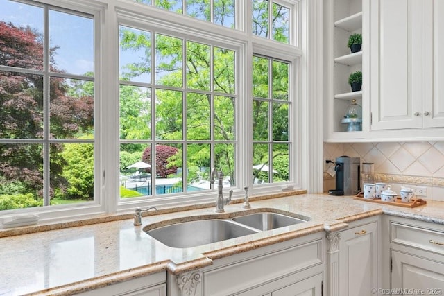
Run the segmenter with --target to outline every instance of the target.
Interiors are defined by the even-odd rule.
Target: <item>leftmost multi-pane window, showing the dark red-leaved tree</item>
[[[0,7],[0,211],[94,202],[94,16]]]

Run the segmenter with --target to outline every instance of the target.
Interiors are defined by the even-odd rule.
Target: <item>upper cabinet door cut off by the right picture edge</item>
[[[444,126],[444,1],[423,3],[422,124],[436,128]]]

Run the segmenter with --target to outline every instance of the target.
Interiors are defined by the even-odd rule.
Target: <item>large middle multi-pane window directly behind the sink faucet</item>
[[[119,27],[121,198],[236,185],[236,51]]]

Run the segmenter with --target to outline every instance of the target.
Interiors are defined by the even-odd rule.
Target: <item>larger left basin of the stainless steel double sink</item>
[[[169,247],[196,247],[257,232],[231,220],[189,221],[146,231]]]

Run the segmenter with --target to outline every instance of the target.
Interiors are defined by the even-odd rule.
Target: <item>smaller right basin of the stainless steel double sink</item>
[[[239,216],[233,218],[232,220],[262,231],[306,222],[306,220],[268,212]]]

